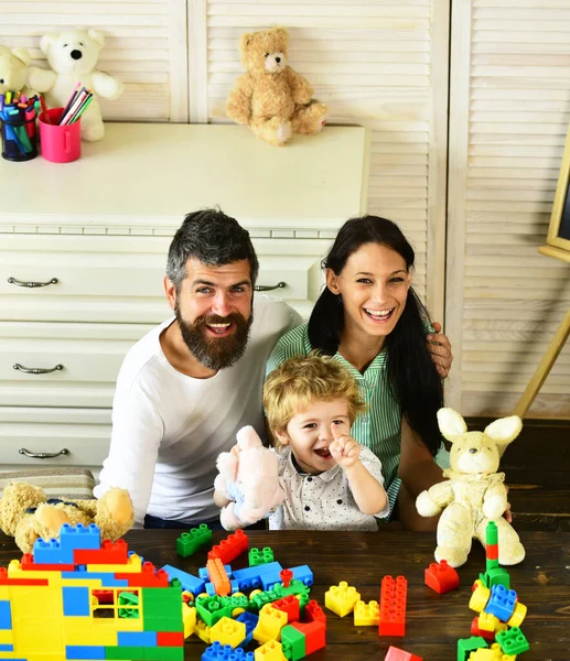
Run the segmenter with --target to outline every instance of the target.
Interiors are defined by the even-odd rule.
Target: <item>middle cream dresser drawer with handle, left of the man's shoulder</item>
[[[0,324],[0,401],[109,408],[125,355],[152,327],[4,322]]]

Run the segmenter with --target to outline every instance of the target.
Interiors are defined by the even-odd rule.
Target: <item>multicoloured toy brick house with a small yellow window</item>
[[[0,568],[1,657],[183,661],[182,604],[180,583],[125,541],[64,525]]]

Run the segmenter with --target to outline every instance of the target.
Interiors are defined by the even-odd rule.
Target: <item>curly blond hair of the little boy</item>
[[[314,402],[335,399],[346,400],[351,425],[366,409],[356,380],[338,360],[313,351],[282,362],[264,387],[264,408],[276,444],[276,433],[283,433],[294,415]]]

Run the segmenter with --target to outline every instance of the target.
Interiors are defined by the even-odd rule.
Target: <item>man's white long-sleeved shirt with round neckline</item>
[[[250,424],[265,437],[261,404],[266,361],[283,333],[301,323],[286,303],[257,301],[244,356],[209,379],[176,371],[160,346],[164,322],[140,339],[122,362],[112,404],[109,456],[100,498],[110,487],[129,491],[136,527],[147,513],[182,522],[214,519],[216,458]]]

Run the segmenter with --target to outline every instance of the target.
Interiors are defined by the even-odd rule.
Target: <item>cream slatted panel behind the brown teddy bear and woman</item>
[[[329,122],[370,129],[368,212],[401,225],[418,254],[416,286],[421,296],[429,294],[438,318],[443,312],[447,112],[440,101],[448,87],[448,11],[447,1],[431,0],[207,2],[209,120],[227,121],[226,98],[243,72],[239,35],[287,25],[290,64],[329,106]]]

